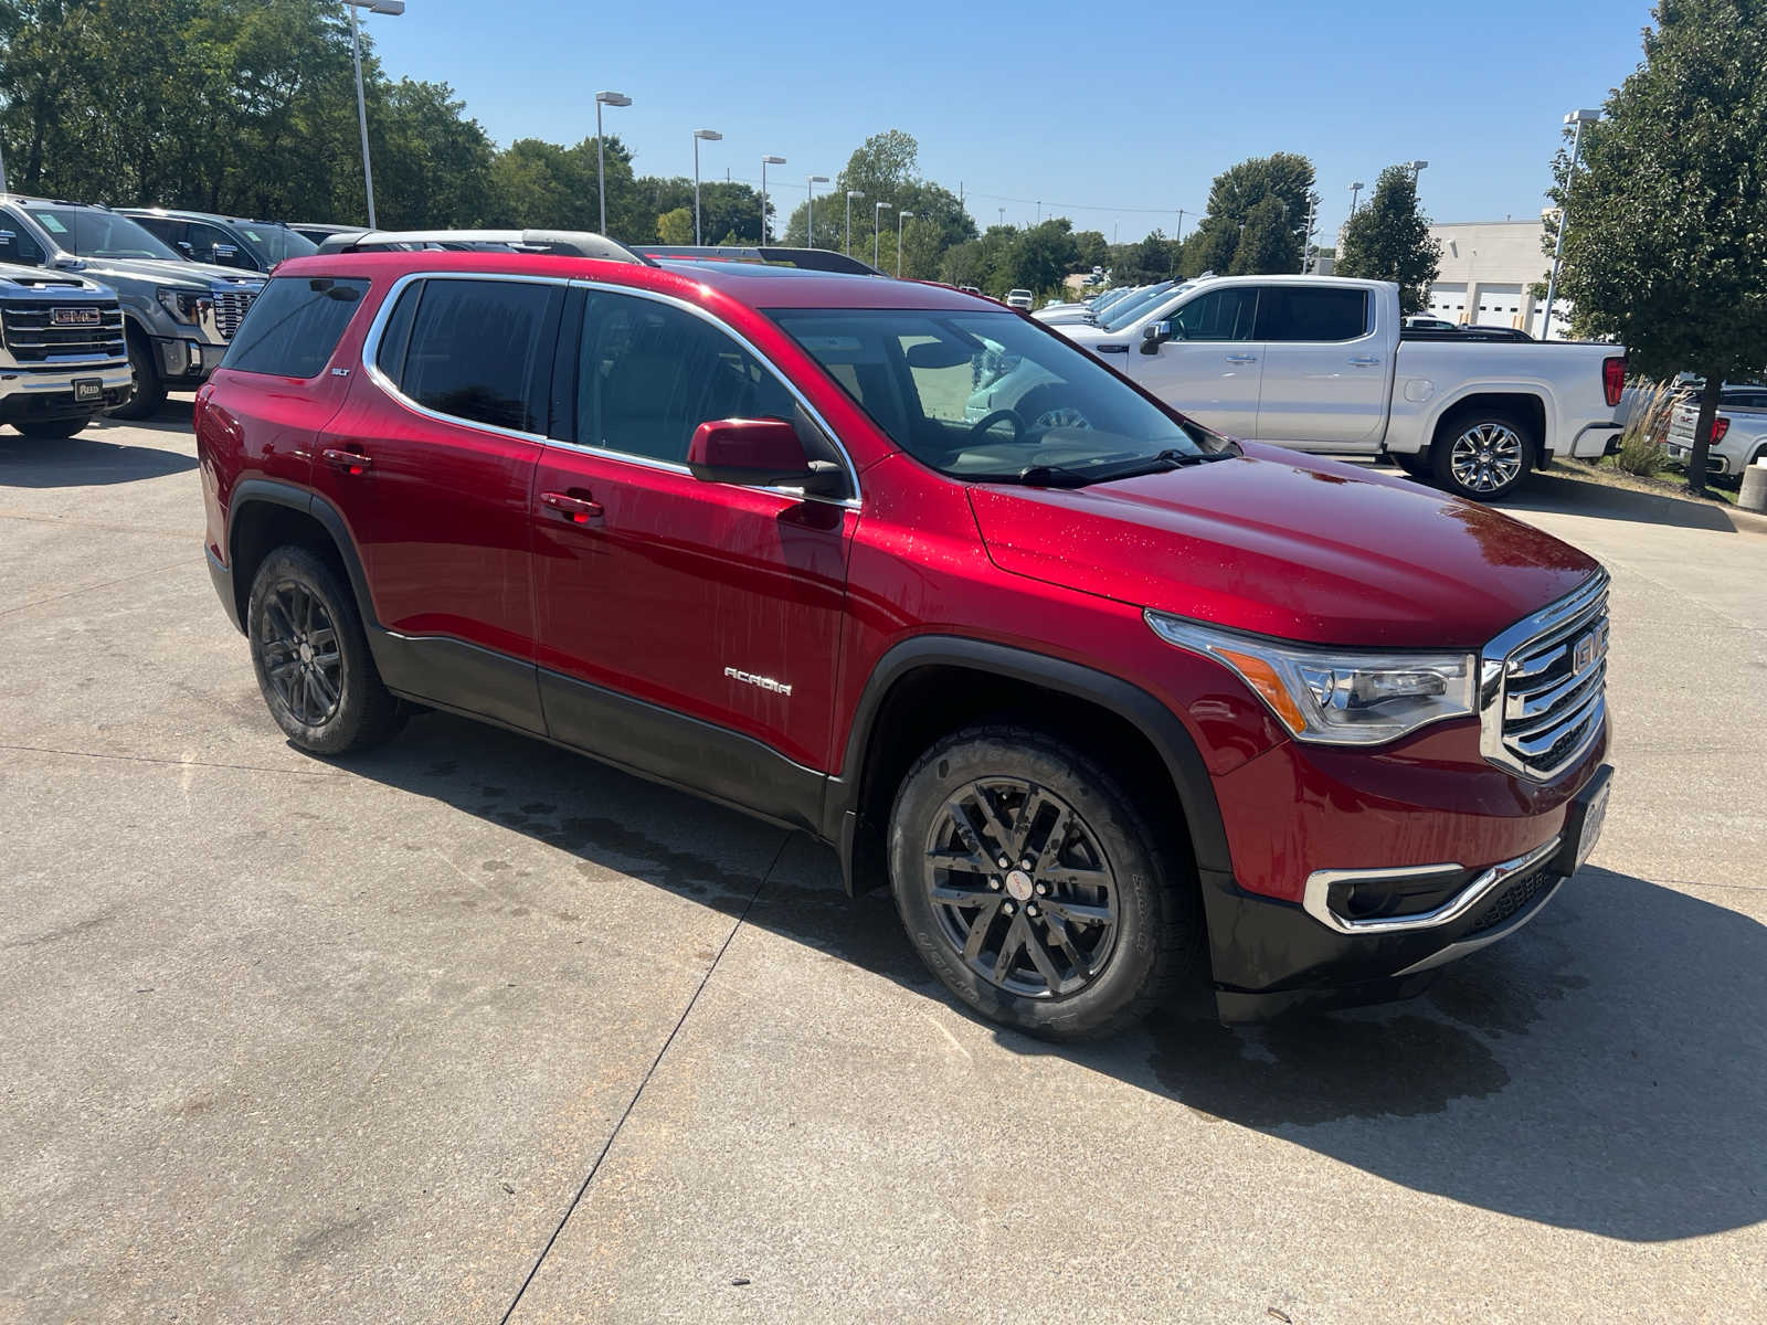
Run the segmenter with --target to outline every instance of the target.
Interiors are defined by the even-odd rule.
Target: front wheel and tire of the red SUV
[[[1044,1039],[1110,1035],[1196,970],[1202,896],[1173,859],[1097,763],[1012,726],[933,746],[889,822],[891,890],[921,959],[968,1009]]]

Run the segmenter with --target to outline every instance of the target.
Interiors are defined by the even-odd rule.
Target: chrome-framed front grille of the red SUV
[[[1548,779],[1594,744],[1608,716],[1608,576],[1498,636],[1484,652],[1484,754]]]

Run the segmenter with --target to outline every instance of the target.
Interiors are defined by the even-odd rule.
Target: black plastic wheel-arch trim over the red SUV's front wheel
[[[823,791],[822,836],[836,843],[850,892],[859,890],[855,889],[853,867],[864,827],[859,820],[859,806],[866,788],[861,783],[878,708],[898,680],[926,666],[961,666],[972,671],[1012,677],[1071,694],[1076,700],[1087,700],[1131,723],[1152,742],[1177,788],[1179,807],[1189,829],[1198,869],[1205,874],[1228,874],[1232,871],[1226,829],[1221,823],[1221,807],[1216,802],[1209,770],[1189,730],[1166,705],[1120,677],[1078,662],[963,636],[921,634],[905,640],[878,659],[866,680],[864,693],[859,696],[859,707],[853,710],[841,772],[827,781]]]

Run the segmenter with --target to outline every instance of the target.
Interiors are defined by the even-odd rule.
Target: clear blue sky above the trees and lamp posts
[[[392,76],[452,83],[498,143],[574,143],[594,94],[640,173],[758,180],[781,212],[868,134],[906,129],[921,173],[970,214],[1051,212],[1106,238],[1186,233],[1209,180],[1293,150],[1318,168],[1322,238],[1352,180],[1422,157],[1437,221],[1530,216],[1558,125],[1636,67],[1647,0],[894,0],[875,5],[597,5],[410,0],[368,16]],[[1366,200],[1366,193],[1362,194]]]

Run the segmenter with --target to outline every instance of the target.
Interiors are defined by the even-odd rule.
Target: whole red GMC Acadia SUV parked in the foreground
[[[574,247],[283,263],[198,396],[300,749],[445,708],[802,829],[1051,1037],[1414,993],[1583,862],[1583,553],[990,300]]]

